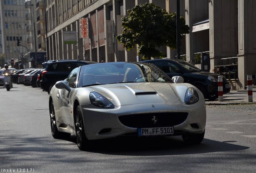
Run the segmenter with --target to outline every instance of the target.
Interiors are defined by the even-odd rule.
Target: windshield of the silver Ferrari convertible
[[[153,64],[107,62],[82,66],[78,87],[122,82],[173,83],[165,73]]]

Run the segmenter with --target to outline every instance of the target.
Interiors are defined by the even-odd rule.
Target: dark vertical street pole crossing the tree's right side
[[[180,59],[180,0],[176,0],[177,59]]]

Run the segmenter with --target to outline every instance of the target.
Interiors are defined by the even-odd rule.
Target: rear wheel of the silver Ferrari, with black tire
[[[70,137],[69,133],[58,131],[53,101],[51,102],[51,106],[50,106],[50,122],[51,122],[52,137],[54,137],[55,139],[66,139]]]

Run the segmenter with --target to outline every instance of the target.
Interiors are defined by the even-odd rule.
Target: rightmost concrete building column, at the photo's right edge
[[[255,12],[256,2],[238,0],[238,78],[239,89],[245,89],[247,75],[255,75]],[[253,79],[255,81],[255,79]]]

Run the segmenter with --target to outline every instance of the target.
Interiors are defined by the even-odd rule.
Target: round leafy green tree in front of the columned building
[[[163,58],[163,52],[157,47],[168,46],[177,48],[176,42],[176,13],[169,14],[153,3],[136,5],[128,10],[128,16],[122,18],[122,34],[117,36],[118,42],[123,43],[127,50],[138,45],[138,54],[143,58]],[[180,16],[180,34],[189,33],[185,18]]]

